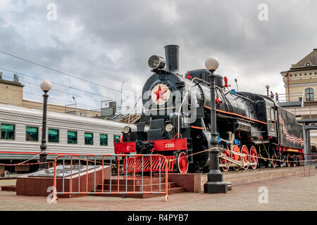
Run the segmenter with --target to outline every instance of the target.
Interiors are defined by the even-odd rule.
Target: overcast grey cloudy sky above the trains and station
[[[56,5],[56,20],[47,19],[49,4]],[[260,4],[268,6],[268,20],[259,20]],[[266,94],[268,84],[285,93],[280,72],[317,48],[316,12],[315,0],[1,0],[0,51],[102,86],[4,53],[0,68],[6,70],[0,70],[4,79],[12,79],[13,70],[63,84],[53,84],[49,103],[71,104],[75,96],[78,108],[93,109],[102,100],[120,102],[123,81],[124,91],[141,94],[151,75],[149,56],[164,56],[164,46],[178,44],[182,74],[216,56],[217,73],[233,88],[237,79],[240,91]],[[24,98],[42,101],[41,80],[19,77]]]

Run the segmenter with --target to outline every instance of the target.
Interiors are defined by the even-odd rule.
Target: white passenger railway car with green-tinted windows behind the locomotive
[[[42,110],[0,103],[0,126],[0,163],[22,162],[40,153]],[[113,154],[113,143],[121,138],[125,126],[110,120],[48,111],[47,159],[60,154]],[[4,171],[3,166],[0,173],[1,170]]]

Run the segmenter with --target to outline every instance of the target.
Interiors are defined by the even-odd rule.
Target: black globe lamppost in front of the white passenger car
[[[46,162],[46,113],[47,113],[47,98],[49,95],[47,92],[51,89],[51,82],[44,80],[41,82],[41,89],[44,91],[44,101],[43,101],[43,122],[42,122],[42,143],[41,143],[41,155],[39,155],[39,162]],[[45,169],[46,164],[39,164],[39,170]]]

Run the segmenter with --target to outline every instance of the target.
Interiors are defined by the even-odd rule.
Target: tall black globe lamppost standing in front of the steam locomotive
[[[216,76],[213,72],[217,70],[219,63],[215,57],[207,58],[205,66],[211,74],[210,78],[210,93],[211,93],[211,141],[210,146],[213,148],[209,151],[210,171],[208,174],[208,181],[204,184],[204,193],[227,193],[231,190],[231,183],[223,182],[223,174],[219,169],[219,149],[218,134],[216,129]],[[216,147],[216,148],[215,148]]]

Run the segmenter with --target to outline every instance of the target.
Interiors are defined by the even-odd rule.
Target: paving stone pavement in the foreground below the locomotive
[[[0,181],[0,185],[3,185]],[[259,203],[259,187],[268,190],[268,203]],[[85,196],[60,198],[56,204],[45,197],[0,191],[0,210],[313,210],[317,211],[317,174],[290,176],[233,186],[227,194],[178,193],[147,199]]]

